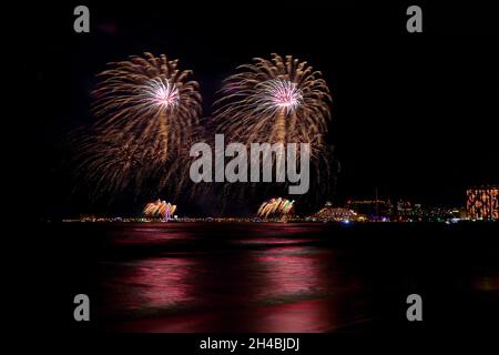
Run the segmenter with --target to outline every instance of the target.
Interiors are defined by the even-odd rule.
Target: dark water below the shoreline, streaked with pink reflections
[[[400,331],[499,322],[497,224],[63,224],[52,278],[91,327],[124,332]],[[70,275],[70,276],[67,276]],[[61,300],[61,297],[60,297]],[[69,304],[68,307],[72,305]]]

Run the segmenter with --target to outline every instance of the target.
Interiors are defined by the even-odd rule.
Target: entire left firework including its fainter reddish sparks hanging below
[[[151,53],[109,67],[92,92],[98,121],[73,143],[77,175],[96,194],[180,189],[201,115],[192,71]]]

